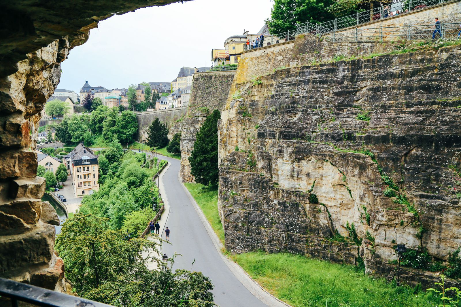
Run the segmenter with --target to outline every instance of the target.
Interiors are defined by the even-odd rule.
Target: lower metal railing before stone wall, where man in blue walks
[[[397,27],[355,28],[333,31],[333,33],[322,35],[322,37],[328,37],[333,42],[455,39],[460,36],[460,22],[441,24],[439,28],[434,28],[433,24],[421,24]]]

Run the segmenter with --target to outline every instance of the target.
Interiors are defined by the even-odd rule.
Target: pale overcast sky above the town
[[[211,49],[231,35],[251,34],[270,17],[271,0],[193,0],[142,8],[101,21],[89,40],[61,64],[57,89],[85,81],[107,89],[142,82],[171,82],[183,66],[210,66]]]

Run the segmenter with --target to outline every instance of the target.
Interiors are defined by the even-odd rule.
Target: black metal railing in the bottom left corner
[[[111,307],[111,305],[106,305],[97,301],[90,301],[78,296],[60,293],[26,283],[18,283],[11,279],[1,277],[0,295],[1,306],[18,307],[18,302],[21,301],[41,307]],[[5,298],[10,299],[10,304]]]

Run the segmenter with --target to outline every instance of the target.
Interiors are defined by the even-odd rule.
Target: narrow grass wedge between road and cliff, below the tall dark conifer
[[[224,229],[218,214],[218,190],[210,189],[200,183],[184,183],[184,185],[205,214],[219,240],[224,244]]]

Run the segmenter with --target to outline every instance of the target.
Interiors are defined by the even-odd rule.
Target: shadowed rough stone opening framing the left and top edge
[[[173,0],[87,1],[70,4],[19,0],[2,3],[0,38],[0,276],[71,292],[64,264],[54,254],[58,217],[41,197],[34,152],[40,111],[61,76],[69,50],[112,14]],[[72,18],[68,18],[72,12]]]

